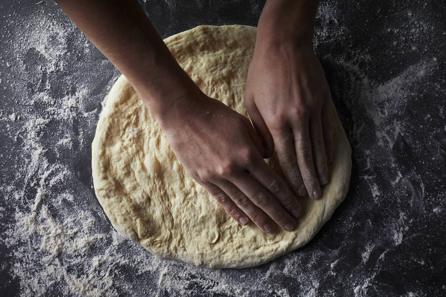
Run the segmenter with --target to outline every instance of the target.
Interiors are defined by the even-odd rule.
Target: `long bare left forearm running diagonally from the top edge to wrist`
[[[56,0],[154,115],[196,88],[136,0]]]

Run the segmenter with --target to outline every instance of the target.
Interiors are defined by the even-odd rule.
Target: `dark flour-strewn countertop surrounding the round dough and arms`
[[[255,26],[263,1],[147,0],[163,38]],[[352,146],[345,202],[246,269],[153,257],[96,200],[91,141],[119,72],[52,1],[0,3],[1,296],[446,296],[446,5],[321,1],[315,48]]]

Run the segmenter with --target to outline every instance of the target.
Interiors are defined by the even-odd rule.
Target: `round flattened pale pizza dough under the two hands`
[[[200,26],[165,39],[210,97],[248,116],[243,93],[256,28]],[[240,226],[178,162],[165,135],[124,76],[114,84],[92,144],[97,199],[113,227],[159,257],[207,267],[247,267],[305,245],[348,191],[351,150],[332,103],[335,159],[322,198],[300,197],[293,232]],[[276,157],[268,163],[280,170]]]

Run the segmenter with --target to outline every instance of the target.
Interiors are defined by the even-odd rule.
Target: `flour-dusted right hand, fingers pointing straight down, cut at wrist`
[[[259,34],[257,34],[258,36]],[[257,39],[244,103],[266,156],[273,147],[295,193],[317,199],[333,160],[330,90],[310,45]]]

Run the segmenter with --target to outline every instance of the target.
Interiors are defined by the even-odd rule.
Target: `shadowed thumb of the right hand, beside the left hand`
[[[262,141],[263,152],[264,152],[263,157],[269,158],[271,157],[272,152],[274,151],[274,141],[272,140],[272,135],[270,133],[270,130],[268,129],[268,126],[265,124],[265,121],[263,120],[260,111],[258,111],[257,107],[255,106],[253,99],[248,101],[245,100],[245,107],[249,113],[249,117],[254,125],[255,131],[257,132],[258,137],[260,137],[260,140]]]

